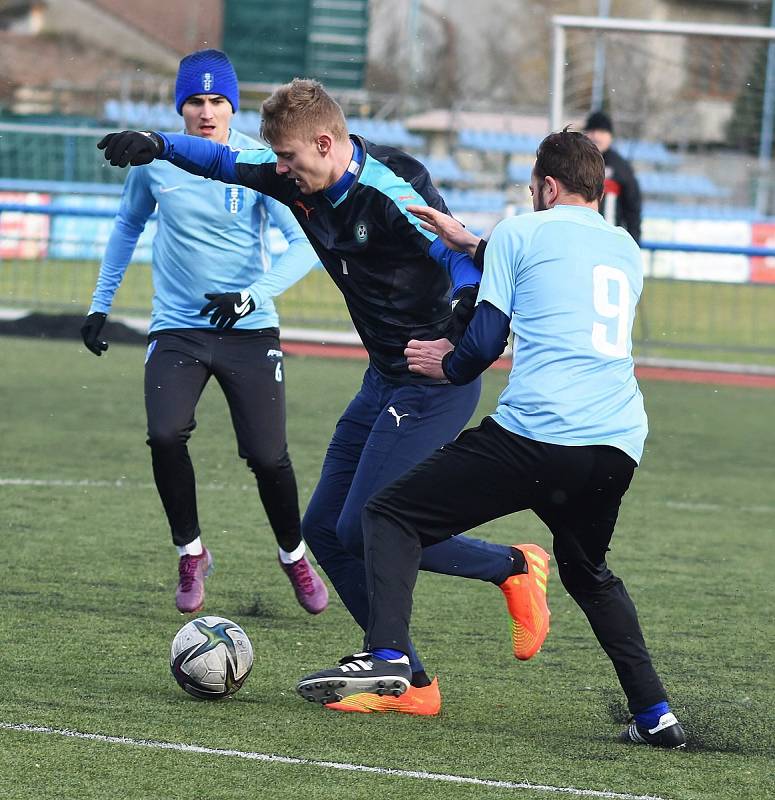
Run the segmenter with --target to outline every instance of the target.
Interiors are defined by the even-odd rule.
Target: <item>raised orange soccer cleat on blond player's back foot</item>
[[[525,557],[527,572],[510,575],[500,585],[511,615],[511,643],[520,661],[532,658],[549,633],[549,606],[546,604],[546,581],[549,578],[549,554],[537,544],[517,544]]]

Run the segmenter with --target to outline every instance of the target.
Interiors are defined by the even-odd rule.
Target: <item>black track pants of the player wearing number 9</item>
[[[560,580],[613,662],[630,710],[664,700],[635,606],[605,560],[634,469],[616,448],[537,442],[489,417],[464,431],[364,509],[367,649],[407,652],[423,547],[530,508],[552,532]]]

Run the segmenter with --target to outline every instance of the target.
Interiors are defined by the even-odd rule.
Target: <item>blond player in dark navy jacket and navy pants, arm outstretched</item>
[[[481,384],[453,386],[409,372],[411,339],[454,336],[450,301],[475,295],[480,271],[407,211],[447,212],[427,170],[390,147],[350,136],[339,105],[312,80],[280,87],[263,105],[272,149],[235,150],[177,134],[126,131],[100,143],[113,165],[163,158],[198,175],[242,184],[285,203],[342,291],[368,353],[363,385],[339,419],[302,523],[304,539],[362,628],[369,617],[361,511],[468,422]],[[461,305],[463,301],[461,301]],[[233,309],[239,307],[235,302]],[[421,568],[498,586],[524,569],[520,550],[458,536],[423,551]],[[504,589],[505,591],[505,589]],[[392,710],[437,713],[436,682],[414,652],[412,686]],[[371,696],[373,697],[373,695]],[[330,707],[372,710],[332,693]],[[379,709],[385,710],[385,709]]]

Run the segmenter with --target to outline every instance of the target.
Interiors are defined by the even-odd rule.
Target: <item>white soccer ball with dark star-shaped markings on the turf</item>
[[[200,700],[219,700],[234,694],[252,667],[250,639],[229,619],[192,619],[172,640],[172,675],[182,689]]]

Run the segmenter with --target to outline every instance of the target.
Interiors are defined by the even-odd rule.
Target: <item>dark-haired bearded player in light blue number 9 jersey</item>
[[[606,564],[621,499],[643,452],[647,423],[634,375],[631,331],[643,285],[628,233],[598,214],[604,164],[581,133],[548,136],[530,189],[537,213],[499,223],[486,243],[478,305],[457,347],[410,341],[412,372],[464,384],[503,352],[514,364],[495,413],[374,495],[363,514],[371,614],[359,661],[303,678],[342,695],[400,693],[407,680],[412,589],[423,548],[515,511],[532,509],[553,537],[563,585],[613,662],[632,723],[624,741],[683,747],[651,663],[637,612]],[[410,211],[449,246],[483,243],[429,207]],[[534,548],[534,549],[533,549]],[[516,646],[532,652],[548,632],[546,564],[528,546],[514,614]],[[541,551],[542,552],[542,551]],[[389,653],[384,658],[383,653]],[[364,688],[366,687],[366,688]]]

